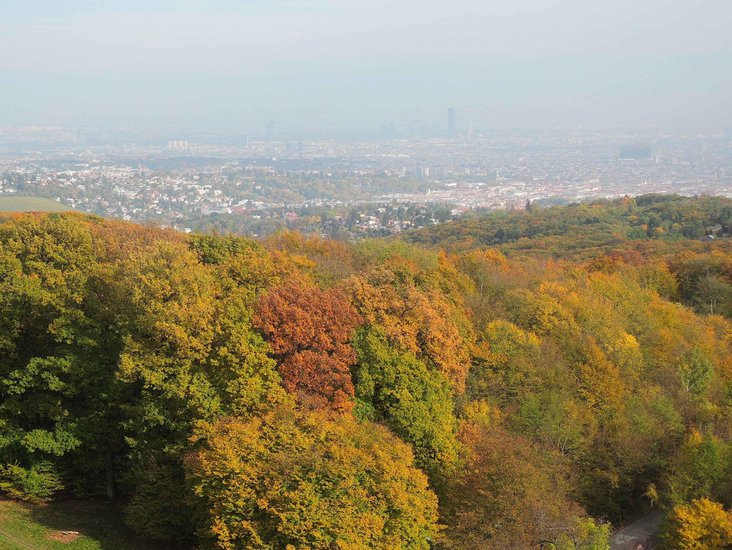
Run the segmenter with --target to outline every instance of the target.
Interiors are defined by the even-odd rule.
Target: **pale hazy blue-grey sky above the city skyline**
[[[732,126],[730,0],[0,7],[0,125]]]

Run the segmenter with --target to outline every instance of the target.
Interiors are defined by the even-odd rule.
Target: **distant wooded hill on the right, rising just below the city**
[[[695,241],[721,236],[732,221],[732,200],[726,197],[642,195],[597,199],[569,206],[493,211],[447,224],[401,233],[411,244],[436,245],[450,252],[494,247],[509,257],[580,257],[610,250],[664,254],[674,246],[704,248]],[[719,230],[713,230],[719,227]],[[725,233],[727,232],[724,229]],[[729,248],[729,244],[722,244]]]

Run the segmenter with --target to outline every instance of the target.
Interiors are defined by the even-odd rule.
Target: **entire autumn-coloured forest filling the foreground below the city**
[[[676,195],[358,243],[0,214],[0,490],[116,499],[185,549],[606,550],[656,509],[660,547],[730,547],[731,222]]]

